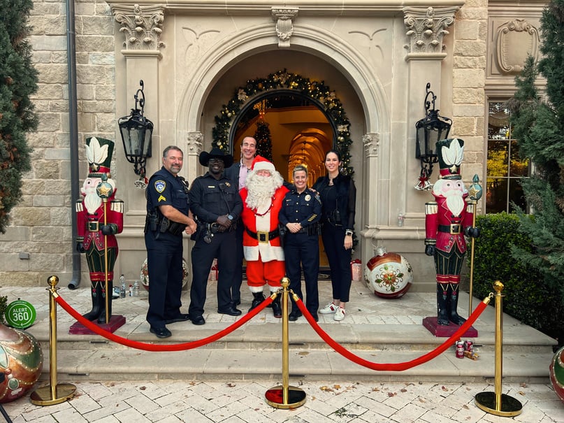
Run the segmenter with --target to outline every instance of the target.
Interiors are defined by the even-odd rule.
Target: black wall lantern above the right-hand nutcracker
[[[415,158],[421,160],[421,175],[415,189],[431,189],[428,181],[433,173],[433,164],[438,162],[435,144],[448,138],[452,120],[439,115],[435,110],[437,96],[431,91],[431,83],[427,83],[425,96],[425,117],[415,124]],[[433,106],[433,108],[431,108]]]

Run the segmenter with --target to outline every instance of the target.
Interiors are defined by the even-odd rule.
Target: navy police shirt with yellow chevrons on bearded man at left
[[[164,166],[152,175],[147,185],[147,212],[159,206],[173,206],[188,215],[189,203],[185,182],[174,176]]]

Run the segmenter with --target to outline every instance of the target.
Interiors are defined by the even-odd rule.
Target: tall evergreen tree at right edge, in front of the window
[[[540,31],[543,58],[538,64],[528,58],[509,102],[519,152],[535,166],[522,181],[531,215],[517,210],[534,250],[512,252],[540,271],[543,280],[538,282],[547,291],[560,292],[564,299],[564,0],[552,0],[544,9]],[[535,87],[539,73],[547,80],[546,99]]]

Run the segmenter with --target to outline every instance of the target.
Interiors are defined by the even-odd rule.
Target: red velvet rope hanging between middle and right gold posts
[[[411,361],[405,361],[403,363],[379,364],[379,363],[374,363],[373,361],[365,360],[359,357],[358,355],[353,354],[352,352],[346,350],[345,347],[342,347],[342,345],[336,343],[335,340],[331,338],[331,336],[328,336],[326,331],[324,331],[323,329],[321,329],[321,327],[319,327],[319,324],[317,324],[317,322],[314,320],[312,315],[310,315],[308,309],[305,308],[303,301],[301,301],[301,299],[299,299],[298,296],[294,296],[294,300],[298,304],[298,308],[300,308],[304,317],[308,320],[308,322],[310,322],[314,331],[316,331],[317,334],[321,337],[321,339],[323,339],[331,348],[333,348],[333,350],[341,354],[343,357],[351,361],[354,361],[356,364],[360,364],[361,366],[371,368],[372,370],[377,370],[377,371],[403,371],[403,370],[407,370],[408,368],[412,368],[414,366],[419,366],[419,364],[423,364],[426,361],[434,359],[439,354],[447,350],[447,348],[454,345],[454,342],[460,339],[460,337],[464,334],[464,332],[467,331],[468,328],[470,328],[470,326],[472,326],[472,324],[476,321],[479,315],[482,314],[486,306],[488,306],[488,303],[484,301],[479,303],[479,305],[475,308],[474,313],[472,313],[472,315],[468,317],[468,320],[466,320],[466,322],[450,338],[445,340],[444,343],[442,343],[442,345],[436,347],[435,350],[428,352],[427,354],[424,354],[421,357],[418,357],[417,359],[413,359]]]

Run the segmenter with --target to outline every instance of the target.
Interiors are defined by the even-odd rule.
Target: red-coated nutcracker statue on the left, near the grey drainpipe
[[[113,141],[86,139],[89,173],[81,189],[84,198],[76,202],[76,248],[86,254],[92,295],[92,310],[83,317],[98,323],[108,323],[112,315],[115,234],[123,229],[123,201],[115,199],[115,183],[110,179],[113,148]]]

